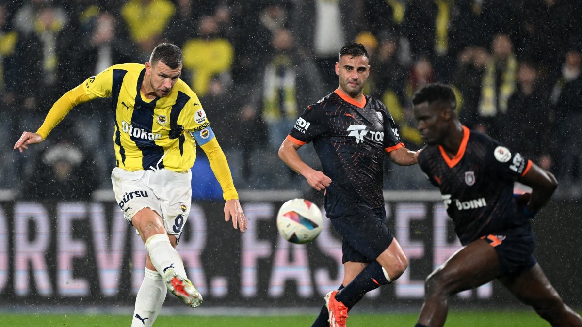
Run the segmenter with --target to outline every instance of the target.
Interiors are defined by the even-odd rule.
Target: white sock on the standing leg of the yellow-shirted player
[[[164,278],[157,271],[145,268],[144,280],[139,292],[137,292],[132,327],[150,327],[153,325],[167,293],[168,289],[166,289]]]

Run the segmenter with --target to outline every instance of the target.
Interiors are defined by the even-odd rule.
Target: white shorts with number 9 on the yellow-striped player
[[[131,223],[136,212],[150,208],[162,217],[168,234],[178,239],[190,214],[191,180],[190,170],[181,173],[168,169],[129,172],[116,167],[111,172],[115,200],[125,219]]]

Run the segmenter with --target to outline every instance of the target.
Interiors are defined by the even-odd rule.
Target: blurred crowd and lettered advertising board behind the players
[[[411,94],[443,81],[456,88],[467,126],[558,176],[555,199],[534,221],[536,255],[565,301],[580,308],[579,17],[579,2],[560,0],[2,1],[0,304],[8,311],[133,305],[144,253],[109,191],[107,100],[74,109],[24,154],[12,145],[66,90],[113,63],[143,63],[155,44],[170,41],[184,50],[183,79],[208,113],[251,222],[244,235],[222,222],[219,188],[198,151],[197,208],[179,250],[205,307],[320,305],[340,283],[340,243],[329,226],[307,246],[277,237],[283,201],[321,205],[322,196],[279,161],[276,148],[302,108],[337,87],[332,67],[341,44],[358,41],[371,56],[366,93],[386,102],[407,147],[422,145]],[[313,150],[301,151],[318,166]],[[386,163],[385,189],[410,269],[359,307],[417,311],[422,280],[459,244],[420,169]],[[495,282],[455,297],[452,307],[528,310]]]

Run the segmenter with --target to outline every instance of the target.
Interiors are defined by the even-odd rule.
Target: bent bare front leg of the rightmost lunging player
[[[476,240],[460,248],[425,281],[424,304],[416,326],[443,326],[452,294],[481,286],[498,275],[498,255],[487,241]]]

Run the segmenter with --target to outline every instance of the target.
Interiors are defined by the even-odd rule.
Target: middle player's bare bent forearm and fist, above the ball
[[[297,150],[300,147],[301,145],[294,144],[289,140],[283,141],[281,147],[279,148],[279,158],[281,158],[281,160],[285,162],[289,168],[305,177],[307,183],[309,183],[309,185],[315,190],[324,190],[325,187],[328,187],[331,183],[331,178],[325,176],[324,173],[311,168],[309,165],[307,165],[307,163],[303,162],[301,157],[299,157],[299,153],[297,153]]]

